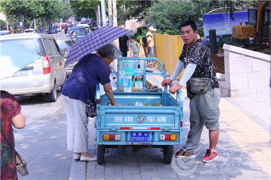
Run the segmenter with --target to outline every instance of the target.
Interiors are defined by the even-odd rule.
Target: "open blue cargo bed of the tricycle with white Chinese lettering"
[[[107,97],[102,96],[97,129],[180,129],[182,108],[168,93],[116,92],[114,98],[121,106],[108,106]],[[134,106],[135,102],[152,106]]]

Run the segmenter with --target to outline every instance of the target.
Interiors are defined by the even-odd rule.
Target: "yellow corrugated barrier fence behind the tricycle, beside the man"
[[[164,64],[165,70],[172,75],[184,45],[181,36],[153,33],[153,38],[155,58],[161,60]],[[199,35],[198,38],[200,38]],[[182,74],[183,71],[177,79],[180,79]]]

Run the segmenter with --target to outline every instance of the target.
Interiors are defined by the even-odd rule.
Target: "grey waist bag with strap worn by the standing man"
[[[185,57],[185,62],[187,64],[187,50],[186,49],[186,57]],[[212,69],[210,68],[211,71],[211,78],[213,76]],[[211,78],[190,78],[189,83],[191,86],[191,91],[196,93],[196,94],[204,94],[211,88]]]

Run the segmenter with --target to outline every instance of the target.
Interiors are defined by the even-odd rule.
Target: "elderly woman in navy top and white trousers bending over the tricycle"
[[[108,65],[119,56],[119,50],[112,44],[98,49],[80,60],[65,81],[62,94],[65,95],[67,114],[68,150],[73,150],[73,159],[96,161],[97,157],[88,153],[88,117],[86,100],[95,100],[96,85],[101,83],[112,105],[117,105],[110,84]]]

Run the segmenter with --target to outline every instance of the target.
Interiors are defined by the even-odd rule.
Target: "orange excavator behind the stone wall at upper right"
[[[260,0],[258,8],[248,9],[248,22],[233,26],[234,42],[242,44],[270,43],[270,8],[269,0]]]

